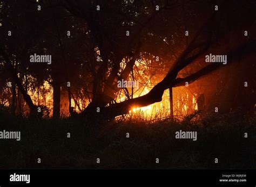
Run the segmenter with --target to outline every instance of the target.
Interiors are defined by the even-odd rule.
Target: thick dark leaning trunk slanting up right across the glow
[[[245,45],[242,45],[238,48],[236,48],[234,51],[230,51],[227,54],[227,59],[230,59],[230,64],[235,62],[235,59],[232,59],[233,53],[240,53],[245,47],[248,47],[250,50],[244,52],[243,55],[251,54],[255,51],[256,48],[256,40],[252,40],[251,42],[248,42]],[[189,51],[188,51],[189,53]],[[185,55],[185,54],[184,54]],[[198,54],[196,56],[199,56]],[[204,53],[200,54],[201,56],[205,56]],[[198,78],[203,77],[207,74],[210,74],[212,71],[223,67],[223,64],[221,63],[212,63],[200,70],[198,70],[196,73],[187,76],[185,78],[176,78],[178,72],[186,67],[187,64],[190,64],[192,61],[196,60],[197,57],[188,57],[185,59],[185,57],[179,57],[177,60],[177,63],[170,69],[169,73],[165,76],[165,78],[159,82],[157,85],[155,85],[149,93],[147,93],[144,96],[140,96],[138,98],[128,99],[124,102],[112,104],[107,107],[102,107],[100,109],[99,115],[101,115],[105,119],[114,119],[116,116],[120,116],[122,114],[129,113],[129,111],[134,107],[143,107],[147,106],[156,102],[160,102],[163,96],[163,93],[166,89],[172,87],[179,87],[181,85],[184,85],[185,82],[192,83],[196,81]],[[198,60],[198,59],[197,59]],[[200,59],[199,59],[200,60]],[[228,66],[228,65],[226,65]],[[96,114],[96,109],[85,109],[82,113],[80,113],[82,116],[90,116],[92,114]]]

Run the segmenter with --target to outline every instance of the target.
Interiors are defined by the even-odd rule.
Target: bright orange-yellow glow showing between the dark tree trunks
[[[159,81],[164,77],[161,74],[157,74],[157,71],[151,74],[151,69],[144,66],[144,63],[136,61],[136,66],[138,68],[137,74],[134,73],[134,77],[131,75],[127,78],[127,81],[137,81],[138,87],[135,88],[127,88],[126,90],[122,89],[118,91],[116,102],[120,103],[124,100],[137,98],[143,95],[146,95],[150,92],[150,90],[156,85]],[[122,69],[125,67],[125,63],[122,63]],[[143,75],[143,76],[142,76]],[[153,75],[153,76],[152,76]],[[156,75],[156,76],[154,76]],[[153,78],[152,78],[153,77]],[[38,88],[37,88],[38,89]],[[37,90],[32,91],[28,90],[29,95],[31,96],[34,103],[39,103],[42,105],[46,105],[52,114],[52,106],[53,106],[53,89],[52,85],[48,82],[44,82],[43,87],[40,87],[39,95],[37,95]],[[129,93],[127,93],[127,91]],[[133,93],[133,96],[131,95]],[[189,93],[189,95],[188,95]],[[74,100],[75,99],[75,100]],[[74,107],[76,112],[80,112],[80,110],[84,110],[86,104],[88,104],[88,100],[82,100],[81,98],[71,98],[71,106]],[[63,95],[61,97],[61,111],[64,113],[69,113],[69,100],[68,95],[63,90]],[[79,110],[80,108],[80,110]],[[173,88],[173,114],[174,116],[184,116],[193,111],[198,110],[197,104],[197,93],[194,91],[188,90],[186,87]],[[148,106],[131,107],[129,114],[131,116],[143,116],[143,118],[161,118],[163,116],[170,117],[170,94],[169,89],[164,91],[161,102],[153,103]]]

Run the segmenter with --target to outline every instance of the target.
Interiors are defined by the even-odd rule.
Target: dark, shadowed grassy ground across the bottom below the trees
[[[104,124],[1,111],[0,124],[0,131],[21,131],[21,141],[0,139],[0,169],[256,169],[256,118],[237,113]],[[180,130],[197,131],[197,141],[176,139]]]

